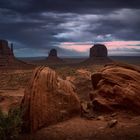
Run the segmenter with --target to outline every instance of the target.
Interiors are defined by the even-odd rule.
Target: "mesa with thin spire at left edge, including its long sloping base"
[[[23,61],[15,58],[13,43],[8,44],[7,40],[0,40],[0,67],[27,66]]]

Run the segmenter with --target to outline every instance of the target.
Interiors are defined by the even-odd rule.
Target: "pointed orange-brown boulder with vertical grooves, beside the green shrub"
[[[21,104],[24,130],[34,132],[80,113],[73,85],[48,67],[35,70]]]

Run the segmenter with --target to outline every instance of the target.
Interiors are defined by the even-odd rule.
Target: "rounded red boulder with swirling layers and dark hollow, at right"
[[[112,64],[92,75],[94,110],[125,109],[140,113],[140,69]]]

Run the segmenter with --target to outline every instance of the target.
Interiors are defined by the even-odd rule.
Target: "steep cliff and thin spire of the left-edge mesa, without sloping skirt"
[[[0,65],[5,66],[14,61],[13,45],[11,49],[8,46],[8,41],[0,40]]]

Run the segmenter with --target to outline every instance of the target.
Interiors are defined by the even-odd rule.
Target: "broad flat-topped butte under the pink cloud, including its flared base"
[[[89,58],[84,63],[106,64],[112,60],[108,57],[108,50],[104,44],[94,44],[90,48]]]

